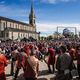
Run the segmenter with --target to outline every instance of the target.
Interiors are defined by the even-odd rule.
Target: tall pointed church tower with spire
[[[30,11],[30,14],[29,14],[29,24],[32,25],[33,27],[36,26],[35,18],[36,17],[35,17],[33,5],[31,5],[31,11]]]

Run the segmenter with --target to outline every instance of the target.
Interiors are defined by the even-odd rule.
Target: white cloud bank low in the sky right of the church
[[[80,24],[66,24],[66,23],[37,23],[37,31],[41,32],[41,36],[48,36],[57,31],[57,26],[61,27],[76,27],[77,33],[80,32]],[[59,28],[59,31],[62,32],[64,28]],[[70,31],[75,32],[74,28],[69,28]]]

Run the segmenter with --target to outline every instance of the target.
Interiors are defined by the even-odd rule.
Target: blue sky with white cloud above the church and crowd
[[[0,16],[28,23],[31,3],[41,35],[53,34],[57,26],[80,31],[80,0],[0,0]]]

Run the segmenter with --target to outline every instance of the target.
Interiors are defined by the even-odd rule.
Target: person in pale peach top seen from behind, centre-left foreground
[[[35,57],[35,51],[31,49],[30,55],[25,58],[24,78],[25,80],[36,80],[39,71],[39,61]]]

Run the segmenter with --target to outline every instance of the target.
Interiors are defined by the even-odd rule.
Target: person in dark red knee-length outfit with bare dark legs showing
[[[55,50],[54,50],[53,48],[49,48],[48,53],[49,53],[49,58],[48,58],[48,70],[49,70],[49,73],[52,73],[52,72],[51,72],[51,67],[50,67],[50,65],[52,65],[53,73],[54,73]]]

